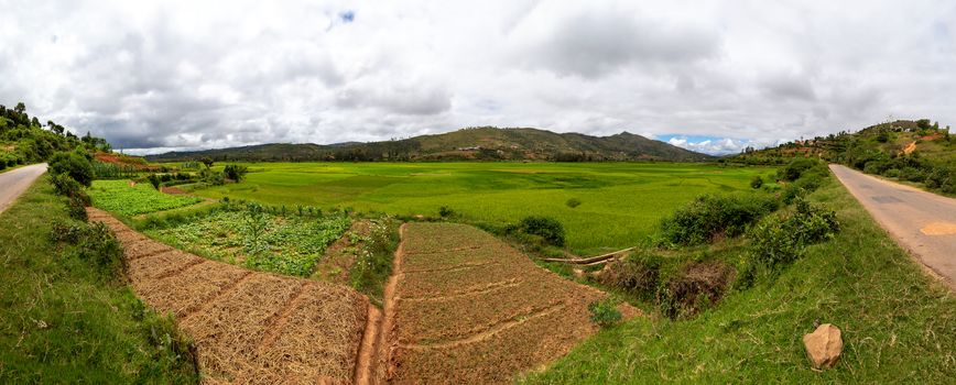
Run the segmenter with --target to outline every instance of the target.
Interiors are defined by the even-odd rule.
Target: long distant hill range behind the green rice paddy
[[[708,161],[710,155],[622,132],[610,136],[537,129],[468,128],[435,135],[369,143],[272,143],[148,155],[150,162],[214,161]]]

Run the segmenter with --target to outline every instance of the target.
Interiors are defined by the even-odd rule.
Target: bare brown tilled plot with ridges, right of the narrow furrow
[[[488,233],[409,223],[402,238],[383,327],[391,382],[508,383],[597,331],[587,307],[606,294]]]

